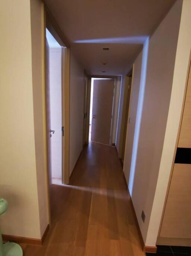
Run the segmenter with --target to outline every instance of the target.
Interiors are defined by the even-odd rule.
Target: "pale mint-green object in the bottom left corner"
[[[0,215],[6,213],[8,208],[8,203],[5,199],[0,198]],[[22,256],[22,248],[16,243],[4,243],[2,240],[2,235],[0,231],[0,256]]]

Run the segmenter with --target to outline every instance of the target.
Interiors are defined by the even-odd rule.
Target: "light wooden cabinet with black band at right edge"
[[[191,246],[191,69],[178,136],[176,158],[157,243]]]

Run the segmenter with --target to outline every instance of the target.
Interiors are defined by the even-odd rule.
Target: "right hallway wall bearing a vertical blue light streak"
[[[128,179],[128,175],[126,175],[126,178],[145,243],[165,137],[181,6],[182,1],[176,1],[149,41],[145,42],[142,60],[138,56],[135,61],[135,70],[140,70],[141,65],[141,73],[134,76],[133,90],[138,90],[139,79],[140,90],[130,177]],[[130,117],[135,118],[135,113],[132,111],[131,108]],[[130,123],[130,126],[131,124],[134,125],[134,123]],[[142,210],[146,216],[144,223],[141,219]]]

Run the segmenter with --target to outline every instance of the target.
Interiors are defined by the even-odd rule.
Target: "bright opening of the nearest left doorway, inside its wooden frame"
[[[47,118],[50,158],[50,183],[62,183],[62,46],[46,29],[47,52]]]

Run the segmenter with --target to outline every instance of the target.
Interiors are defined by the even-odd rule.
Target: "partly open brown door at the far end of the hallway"
[[[110,144],[115,79],[94,79],[91,141]]]

